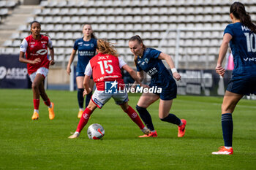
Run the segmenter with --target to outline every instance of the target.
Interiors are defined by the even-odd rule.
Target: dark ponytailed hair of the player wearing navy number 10
[[[252,23],[249,12],[246,12],[244,4],[239,1],[234,2],[230,7],[230,14],[240,20],[244,26],[247,26],[252,32],[256,33],[256,26]]]

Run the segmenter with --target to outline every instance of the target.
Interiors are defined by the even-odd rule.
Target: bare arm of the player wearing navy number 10
[[[216,70],[217,74],[219,74],[222,77],[225,74],[225,69],[222,67],[222,61],[225,58],[225,55],[227,53],[228,43],[230,42],[231,39],[232,39],[232,36],[230,34],[226,33],[223,36],[222,45],[220,45],[220,47],[219,47],[219,58],[218,58],[217,66],[216,66],[215,70]]]

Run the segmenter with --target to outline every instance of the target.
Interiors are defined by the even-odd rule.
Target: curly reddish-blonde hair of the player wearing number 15
[[[104,39],[97,40],[97,50],[99,50],[99,53],[114,55],[114,56],[118,57],[117,50],[113,46],[113,44],[110,42],[107,42]]]

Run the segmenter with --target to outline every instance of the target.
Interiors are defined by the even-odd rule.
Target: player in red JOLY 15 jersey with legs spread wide
[[[91,75],[93,75],[97,89],[94,91],[88,107],[86,107],[82,117],[80,118],[80,122],[78,123],[78,128],[75,131],[75,134],[69,136],[69,139],[77,138],[83,127],[87,124],[90,115],[92,112],[94,112],[94,109],[97,107],[101,109],[110,98],[113,98],[116,101],[116,104],[120,105],[121,109],[123,109],[124,112],[129,115],[132,121],[139,126],[144,134],[149,134],[150,131],[145,127],[145,125],[143,125],[137,112],[135,112],[135,110],[129,106],[127,92],[122,91],[121,93],[119,91],[119,89],[123,90],[125,88],[124,80],[121,76],[121,69],[129,72],[135,82],[140,84],[140,80],[136,76],[135,71],[130,68],[121,58],[118,58],[116,49],[113,47],[113,45],[105,40],[98,39],[97,53],[98,55],[91,58],[89,64],[86,66],[86,76],[83,81],[83,85],[85,87],[84,94],[91,93],[92,89],[89,85]],[[110,89],[116,87],[116,93],[108,93],[108,91],[105,91],[106,85],[109,83],[111,85]],[[146,85],[142,86],[147,87]]]

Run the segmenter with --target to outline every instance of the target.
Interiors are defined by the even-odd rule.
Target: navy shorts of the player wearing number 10
[[[242,95],[256,94],[256,77],[233,76],[228,82],[227,90]]]

